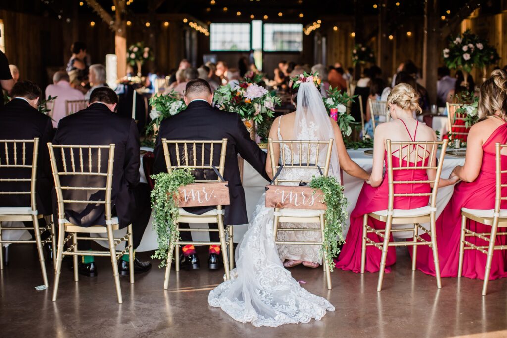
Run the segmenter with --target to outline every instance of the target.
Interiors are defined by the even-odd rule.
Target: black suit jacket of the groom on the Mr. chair
[[[248,223],[245,207],[245,192],[241,185],[238,168],[238,154],[267,180],[266,154],[255,141],[250,139],[239,115],[211,107],[205,101],[193,101],[187,109],[162,122],[155,146],[155,172],[166,172],[162,138],[168,140],[221,140],[227,138],[227,154],[225,160],[224,178],[229,181],[231,205],[226,206],[224,223]],[[220,161],[220,147],[214,147],[213,163],[216,167]],[[169,148],[171,159],[175,158],[174,148]],[[175,165],[175,163],[172,163]],[[216,177],[212,170],[196,173],[198,178]],[[189,210],[202,214],[210,208]]]

